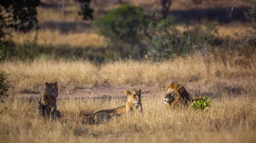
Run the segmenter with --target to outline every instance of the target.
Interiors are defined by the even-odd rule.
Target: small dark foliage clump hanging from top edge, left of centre
[[[90,8],[91,0],[79,0],[81,3],[79,15],[83,16],[83,20],[93,20],[93,9]]]

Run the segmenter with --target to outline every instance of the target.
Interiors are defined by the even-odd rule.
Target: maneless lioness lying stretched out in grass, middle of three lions
[[[139,111],[142,114],[143,108],[140,100],[141,90],[125,90],[125,95],[127,96],[127,101],[125,106],[121,106],[115,109],[101,110],[94,113],[88,118],[87,121],[83,121],[83,124],[99,124],[105,123],[113,117],[119,117],[127,113],[134,111]]]

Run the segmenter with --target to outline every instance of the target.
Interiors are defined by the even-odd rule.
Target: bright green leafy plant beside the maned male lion
[[[208,97],[203,97],[202,99],[199,99],[198,101],[195,101],[193,105],[191,105],[191,108],[198,111],[206,111],[211,106],[212,101],[209,100]]]

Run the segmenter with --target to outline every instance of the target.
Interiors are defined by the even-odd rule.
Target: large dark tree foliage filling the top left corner
[[[0,0],[0,12],[6,12],[5,16],[0,15],[0,21],[5,22],[4,26],[13,28],[15,31],[27,32],[33,28],[39,29],[36,7],[41,0]]]

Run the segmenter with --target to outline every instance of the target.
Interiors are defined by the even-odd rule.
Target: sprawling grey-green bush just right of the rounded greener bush
[[[186,54],[193,54],[196,50],[204,50],[221,41],[215,35],[218,22],[202,20],[201,25],[185,28],[183,33],[177,31],[174,25],[175,17],[157,18],[151,15],[148,19],[146,36],[144,39],[147,53],[146,58],[153,61],[174,58]]]

